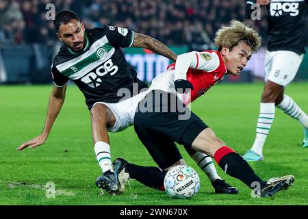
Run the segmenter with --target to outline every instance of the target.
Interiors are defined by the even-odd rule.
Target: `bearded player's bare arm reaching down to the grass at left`
[[[47,137],[49,136],[51,127],[53,126],[53,123],[55,122],[55,119],[57,118],[57,115],[59,114],[64,103],[65,91],[66,86],[62,88],[53,86],[53,91],[49,97],[47,117],[42,133],[39,136],[36,136],[36,138],[21,144],[21,146],[17,148],[18,151],[22,151],[23,149],[27,148],[27,146],[29,146],[30,149],[34,149],[36,146],[44,144],[44,142],[47,140]]]

